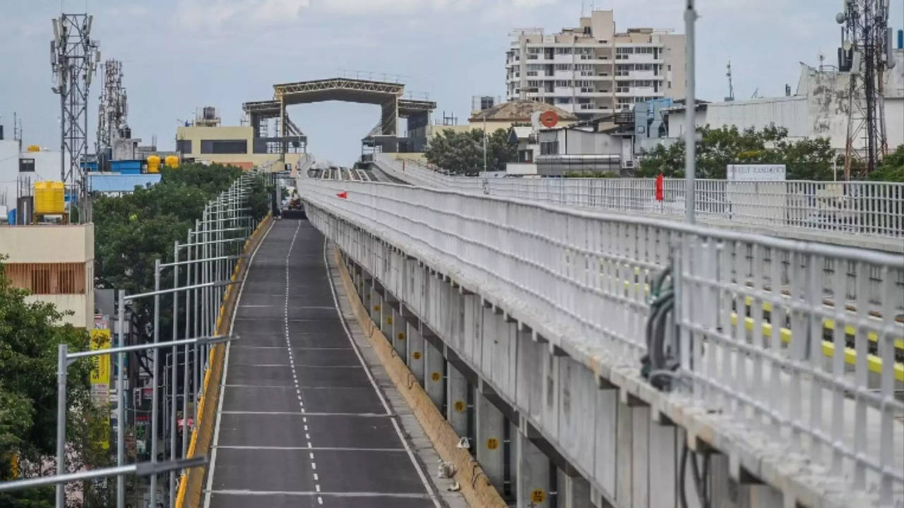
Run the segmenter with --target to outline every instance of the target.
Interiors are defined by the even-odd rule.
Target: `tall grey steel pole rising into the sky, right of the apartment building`
[[[696,221],[696,196],[694,195],[694,179],[697,165],[697,104],[694,91],[694,24],[697,22],[697,11],[693,8],[694,0],[686,0],[684,10],[684,217],[689,223]]]

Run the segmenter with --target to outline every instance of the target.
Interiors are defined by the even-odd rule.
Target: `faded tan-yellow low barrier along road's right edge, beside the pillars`
[[[408,403],[411,412],[418,419],[424,433],[430,439],[437,453],[446,462],[455,465],[455,479],[461,486],[461,494],[466,502],[475,508],[506,508],[503,498],[496,491],[484,469],[477,463],[465,448],[458,448],[458,435],[451,425],[443,418],[442,413],[433,404],[427,392],[420,387],[414,374],[392,349],[392,344],[381,333],[380,327],[371,320],[367,309],[361,302],[361,297],[354,290],[352,277],[342,259],[339,249],[333,247],[333,259],[342,278],[345,295],[352,304],[354,315],[361,325],[364,334],[377,353],[380,362],[389,374],[396,390],[399,390],[405,402]]]

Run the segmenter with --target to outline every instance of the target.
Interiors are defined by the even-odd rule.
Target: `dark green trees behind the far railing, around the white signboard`
[[[732,164],[783,164],[788,180],[832,180],[836,155],[828,138],[789,140],[785,127],[762,130],[738,127],[698,127],[698,178],[725,178]],[[684,176],[684,142],[658,145],[646,152],[638,174]]]

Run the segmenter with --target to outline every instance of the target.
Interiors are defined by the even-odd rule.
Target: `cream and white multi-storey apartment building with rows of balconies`
[[[578,28],[515,30],[505,53],[506,96],[553,104],[582,118],[684,95],[684,35],[652,28],[617,33],[612,11]]]

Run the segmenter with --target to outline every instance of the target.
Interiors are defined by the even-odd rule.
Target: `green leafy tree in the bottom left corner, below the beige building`
[[[39,475],[56,450],[57,348],[88,347],[88,334],[61,325],[63,315],[52,304],[28,303],[28,292],[12,286],[0,259],[0,480],[13,476],[14,457],[20,475]],[[75,362],[67,382],[66,436],[71,468],[106,466],[105,453],[88,437],[98,418],[91,405],[90,363]],[[0,494],[0,506],[50,508],[53,489]]]

